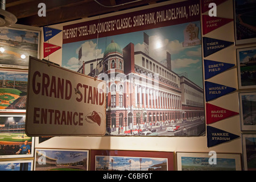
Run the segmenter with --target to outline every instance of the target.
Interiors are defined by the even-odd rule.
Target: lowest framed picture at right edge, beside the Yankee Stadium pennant
[[[256,134],[242,134],[243,170],[256,171]]]

